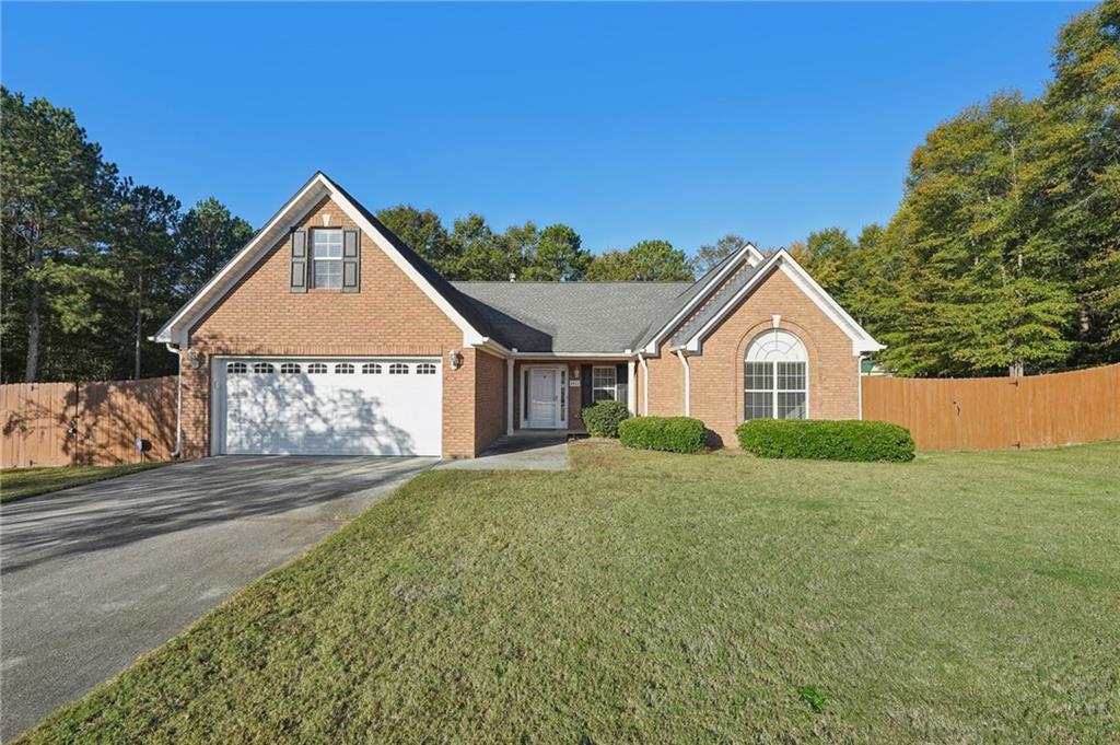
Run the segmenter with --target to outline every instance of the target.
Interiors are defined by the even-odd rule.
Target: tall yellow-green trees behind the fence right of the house
[[[1120,361],[1120,0],[1058,31],[1037,99],[931,131],[886,225],[790,246],[904,375]]]

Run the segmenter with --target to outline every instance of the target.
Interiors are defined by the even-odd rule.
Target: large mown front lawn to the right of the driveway
[[[1120,444],[428,472],[36,743],[1120,739]]]

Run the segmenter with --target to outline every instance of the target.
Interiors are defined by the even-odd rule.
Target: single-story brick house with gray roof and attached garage
[[[592,401],[702,419],[860,416],[870,335],[780,251],[696,282],[450,282],[316,174],[152,337],[179,451],[474,457]]]

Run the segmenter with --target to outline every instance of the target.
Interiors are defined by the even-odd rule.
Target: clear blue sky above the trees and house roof
[[[1036,95],[1086,4],[3,3],[2,80],[254,225],[316,169],[376,209],[595,252],[889,218],[925,133]]]

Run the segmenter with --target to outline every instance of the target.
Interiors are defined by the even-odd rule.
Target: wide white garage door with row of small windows
[[[218,357],[214,441],[230,455],[439,455],[431,358]]]

